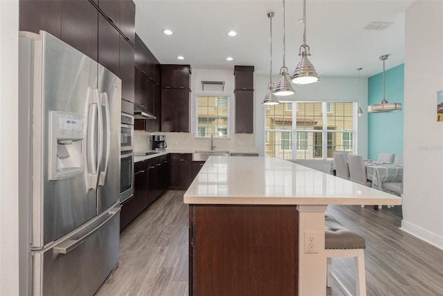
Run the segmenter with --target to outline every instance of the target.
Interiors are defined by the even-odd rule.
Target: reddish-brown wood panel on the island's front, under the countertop
[[[189,295],[298,295],[296,205],[190,205]]]

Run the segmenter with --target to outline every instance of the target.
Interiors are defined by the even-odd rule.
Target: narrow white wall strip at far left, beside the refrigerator
[[[0,295],[19,295],[19,2],[0,1]]]

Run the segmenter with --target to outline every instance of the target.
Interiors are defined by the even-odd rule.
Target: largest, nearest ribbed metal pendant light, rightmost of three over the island
[[[302,60],[298,63],[296,70],[293,71],[291,81],[295,84],[310,84],[318,81],[318,75],[314,65],[307,59],[311,55],[310,48],[306,44],[306,0],[303,0],[303,44],[298,50],[298,55]]]

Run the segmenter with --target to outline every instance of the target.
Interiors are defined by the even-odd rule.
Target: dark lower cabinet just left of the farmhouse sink
[[[170,154],[170,189],[187,189],[192,182],[192,154]]]

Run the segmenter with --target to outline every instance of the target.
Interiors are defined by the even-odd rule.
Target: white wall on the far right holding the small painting
[[[417,1],[406,11],[404,198],[401,229],[443,249],[443,2]]]

